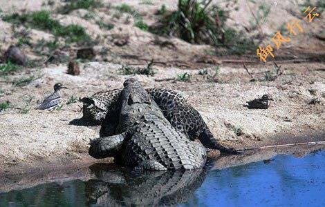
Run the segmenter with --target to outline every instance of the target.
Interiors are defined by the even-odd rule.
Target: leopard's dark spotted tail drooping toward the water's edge
[[[221,152],[230,153],[230,154],[239,154],[239,151],[235,150],[234,148],[226,148],[219,144],[219,142],[214,138],[212,132],[209,128],[203,128],[202,132],[198,136],[203,146],[210,149],[220,150]]]

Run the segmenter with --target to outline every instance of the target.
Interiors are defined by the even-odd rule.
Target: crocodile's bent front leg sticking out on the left
[[[100,137],[91,141],[89,148],[89,155],[97,159],[105,157],[114,157],[120,150],[124,141],[124,133],[120,135],[113,135],[110,137]]]

